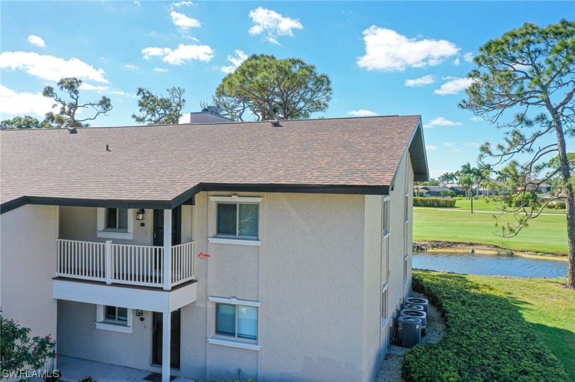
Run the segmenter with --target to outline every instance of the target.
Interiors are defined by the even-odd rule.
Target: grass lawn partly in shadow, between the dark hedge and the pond
[[[531,324],[535,335],[561,361],[570,381],[575,381],[575,291],[563,288],[565,279],[457,277],[502,290]]]

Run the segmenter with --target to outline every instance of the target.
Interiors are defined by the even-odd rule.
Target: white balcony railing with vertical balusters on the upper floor
[[[164,286],[164,247],[57,239],[57,277]],[[172,246],[170,286],[194,278],[194,242]]]

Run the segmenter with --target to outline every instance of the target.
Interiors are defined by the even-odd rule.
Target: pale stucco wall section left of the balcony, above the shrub
[[[5,318],[31,328],[31,336],[56,338],[58,207],[21,206],[0,215],[0,307]]]

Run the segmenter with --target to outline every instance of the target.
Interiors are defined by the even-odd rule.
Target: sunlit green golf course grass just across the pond
[[[504,219],[513,219],[513,216],[505,215]],[[541,215],[510,239],[493,234],[495,222],[491,213],[416,207],[413,208],[413,240],[459,241],[514,251],[567,254],[567,221],[563,215]]]

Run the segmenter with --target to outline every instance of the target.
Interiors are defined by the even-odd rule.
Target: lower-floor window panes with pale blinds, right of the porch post
[[[257,340],[257,308],[216,303],[216,334]]]

